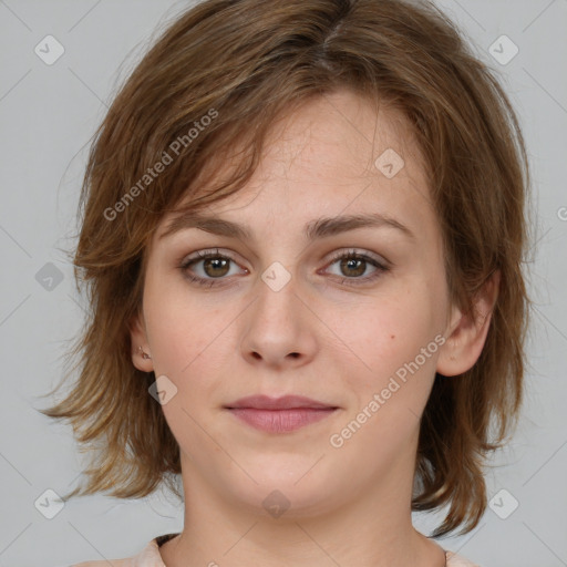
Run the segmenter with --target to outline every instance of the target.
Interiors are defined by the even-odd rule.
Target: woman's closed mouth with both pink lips
[[[252,395],[224,406],[246,424],[268,433],[289,433],[332,415],[339,408],[298,395]]]

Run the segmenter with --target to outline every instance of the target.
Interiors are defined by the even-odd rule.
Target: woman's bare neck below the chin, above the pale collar
[[[270,517],[261,505],[258,509],[231,499],[229,494],[219,494],[183,455],[182,462],[185,473],[190,470],[190,474],[183,475],[185,527],[159,548],[167,567],[445,565],[443,549],[412,525],[413,476],[404,480],[405,492],[400,491],[400,476],[391,474],[395,489],[388,483],[369,483],[358,491],[358,498],[319,514],[291,506],[279,517]]]

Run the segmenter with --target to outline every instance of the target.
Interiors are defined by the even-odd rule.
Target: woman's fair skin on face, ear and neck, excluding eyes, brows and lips
[[[389,147],[404,159],[392,178],[374,166]],[[162,546],[164,563],[442,567],[442,548],[411,522],[419,417],[436,371],[453,377],[477,360],[497,285],[478,297],[476,320],[451,305],[439,221],[403,117],[385,107],[375,114],[349,91],[315,99],[276,125],[246,187],[206,212],[246,225],[254,239],[198,228],[161,239],[174,214],[165,216],[132,326],[135,367],[177,388],[162,408],[181,447],[185,527]],[[310,220],[361,213],[386,214],[415,238],[391,227],[303,237]],[[190,282],[182,261],[217,247],[229,270],[205,271],[197,258],[186,274],[217,286]],[[332,252],[351,248],[390,269],[357,285],[377,268],[331,264]],[[290,276],[279,291],[261,279],[276,261]],[[440,334],[444,344],[333,447],[330,436]],[[274,434],[223,408],[258,393],[339,410]],[[262,506],[275,489],[290,504],[277,518]]]

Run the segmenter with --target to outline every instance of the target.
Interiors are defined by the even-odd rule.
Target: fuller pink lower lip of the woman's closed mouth
[[[230,412],[239,420],[257,430],[269,433],[287,433],[315,423],[334,413],[334,408],[315,410],[297,408],[292,410],[255,410],[252,408],[233,408]]]

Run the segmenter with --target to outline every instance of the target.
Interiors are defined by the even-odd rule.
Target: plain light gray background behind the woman
[[[567,566],[567,0],[437,3],[501,73],[518,110],[536,219],[520,424],[487,471],[493,507],[472,534],[440,543],[482,567]],[[34,503],[49,501],[47,489],[69,491],[84,463],[70,427],[37,409],[48,405],[40,396],[59,381],[61,354],[83,316],[62,249],[73,244],[90,137],[157,31],[188,6],[0,0],[0,567],[130,556],[152,537],[182,529],[183,511],[167,494],[74,498],[52,519]],[[34,52],[48,34],[65,50],[52,65]],[[491,54],[503,34],[519,50],[506,64]],[[501,59],[513,53],[502,41],[492,49]],[[414,520],[429,534],[441,517]]]

